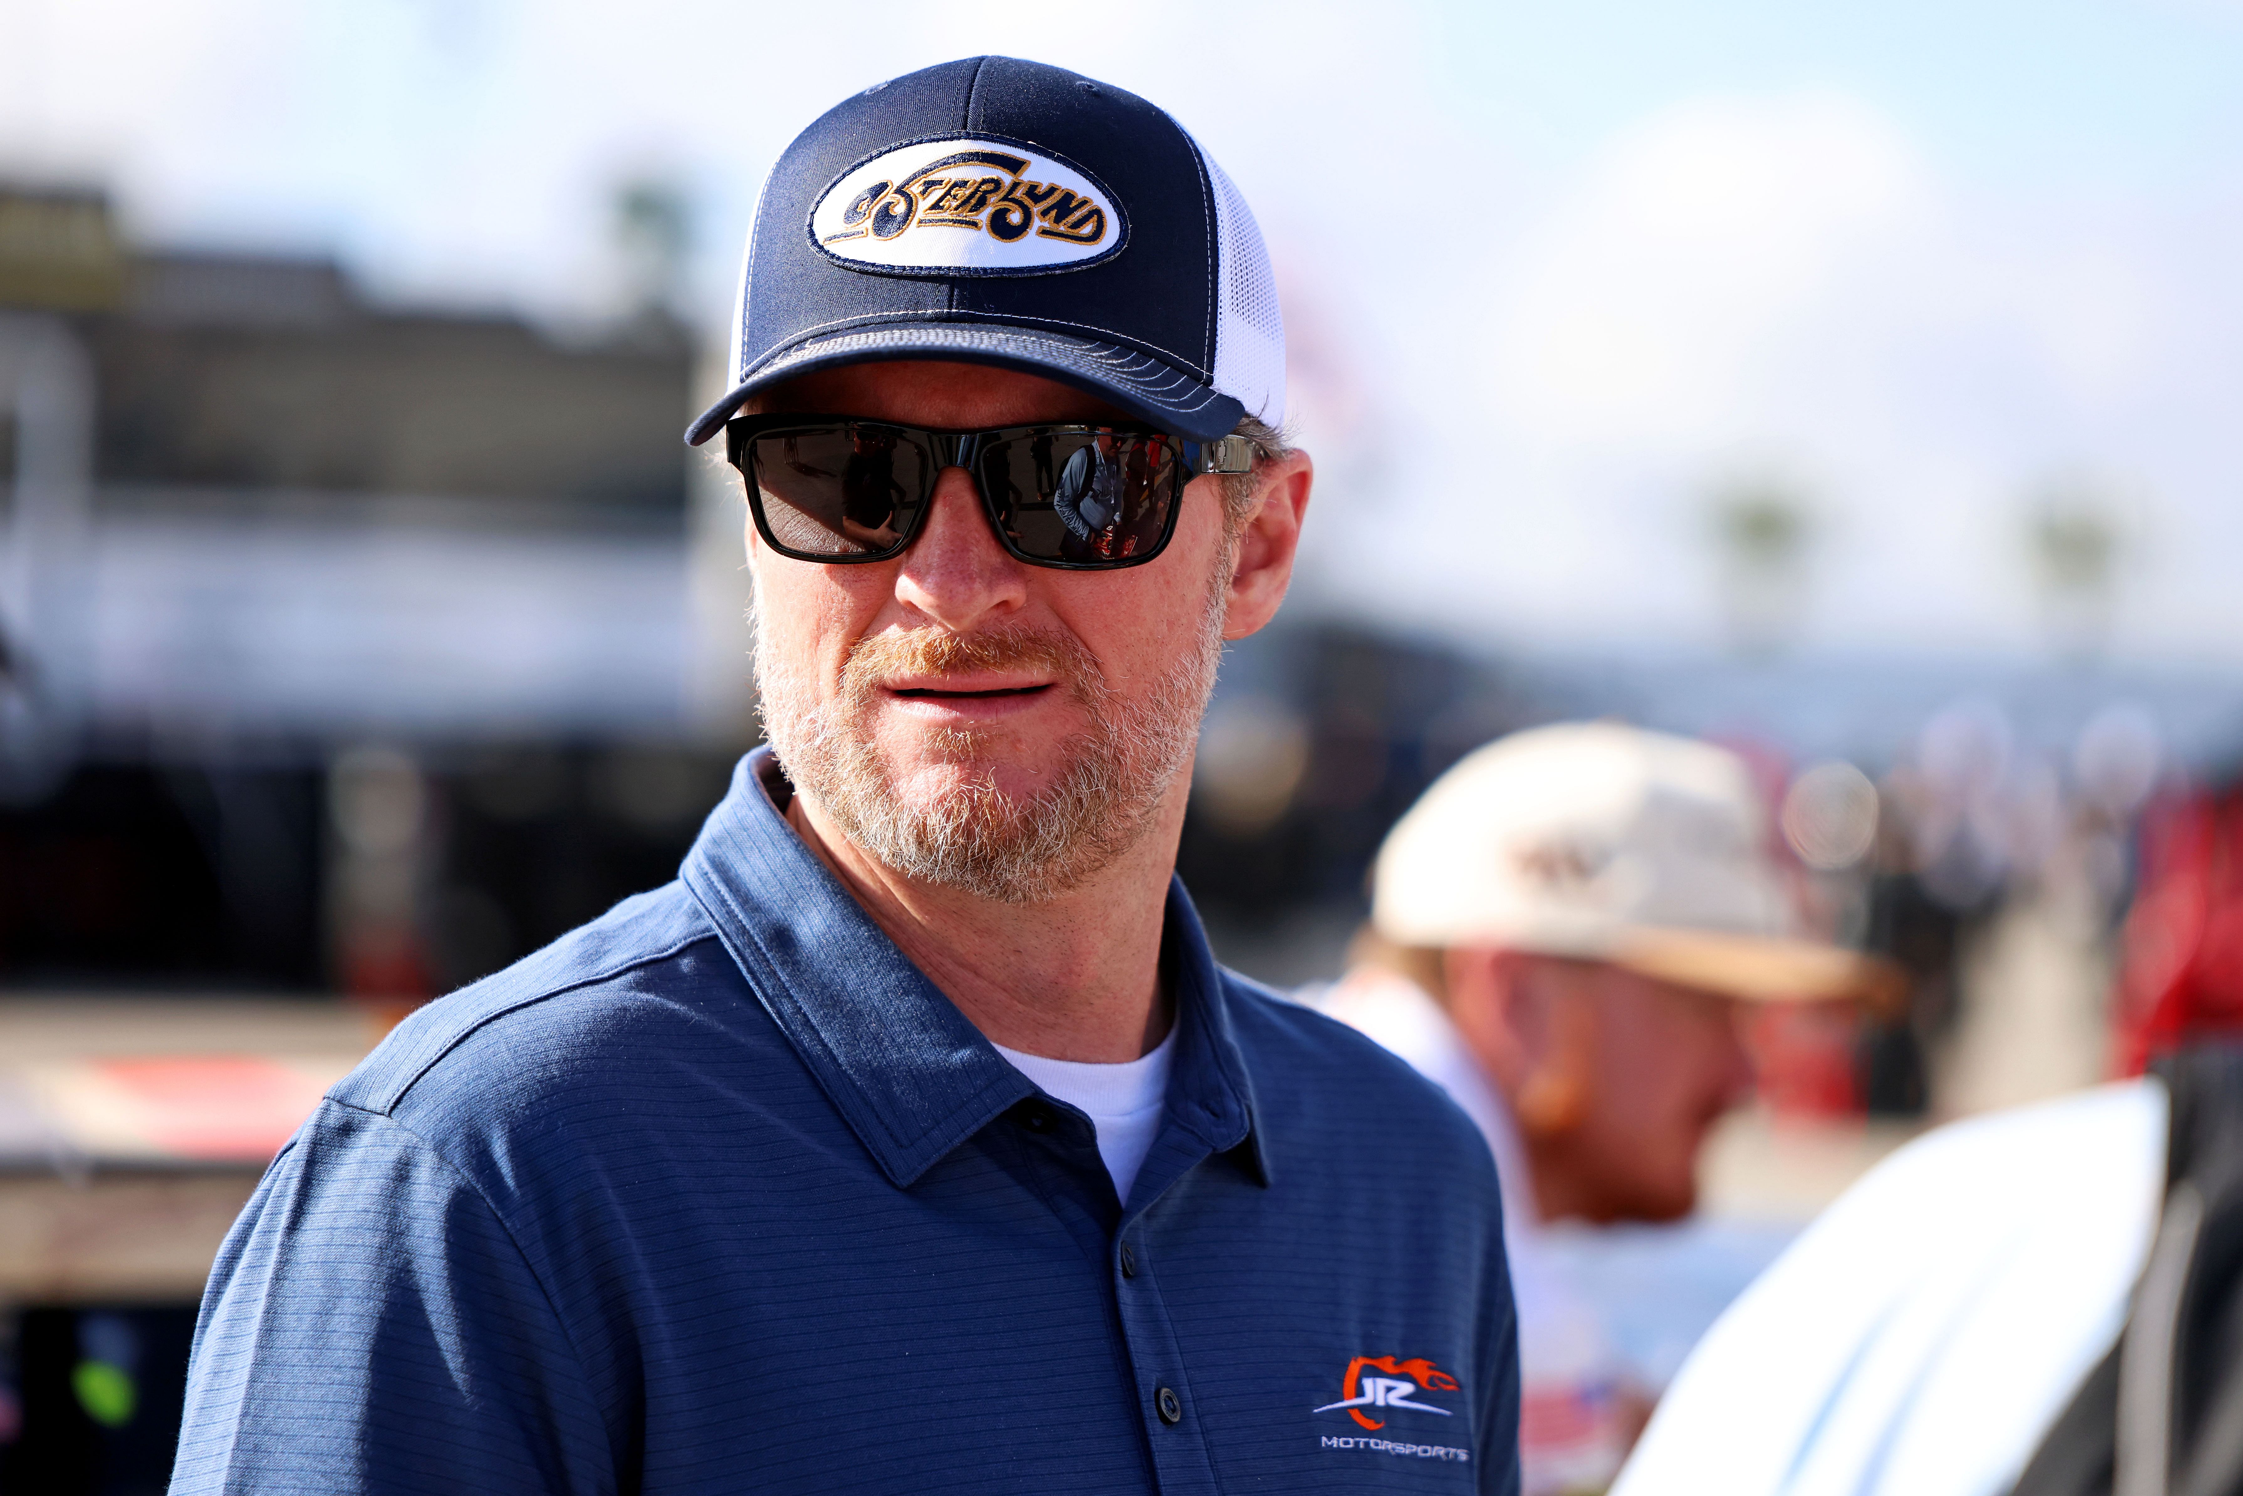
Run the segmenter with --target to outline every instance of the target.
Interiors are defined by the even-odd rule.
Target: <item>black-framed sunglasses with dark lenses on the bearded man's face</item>
[[[1245,437],[1187,442],[1137,426],[926,431],[848,415],[740,415],[724,455],[747,478],[756,534],[781,556],[855,565],[902,556],[942,469],[980,489],[1016,561],[1070,572],[1144,565],[1175,534],[1184,484],[1247,473]]]

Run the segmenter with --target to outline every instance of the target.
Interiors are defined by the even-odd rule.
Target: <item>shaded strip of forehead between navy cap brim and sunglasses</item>
[[[765,413],[864,415],[933,428],[1027,426],[1036,422],[1128,422],[1095,395],[994,363],[875,359],[821,368],[760,390]]]

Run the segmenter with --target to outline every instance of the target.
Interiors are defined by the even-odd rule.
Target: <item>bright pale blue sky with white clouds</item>
[[[2243,7],[0,0],[0,173],[148,242],[581,321],[612,188],[700,213],[973,52],[1166,105],[1254,202],[1321,460],[1303,603],[1510,646],[1723,635],[1707,496],[1812,514],[1812,648],[2030,655],[2032,493],[2117,523],[2111,650],[2243,666]]]

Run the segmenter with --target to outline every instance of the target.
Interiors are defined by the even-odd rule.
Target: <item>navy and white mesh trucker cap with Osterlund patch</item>
[[[1166,112],[978,56],[877,83],[794,137],[740,265],[731,390],[875,359],[998,363],[1213,440],[1285,419],[1261,229]]]

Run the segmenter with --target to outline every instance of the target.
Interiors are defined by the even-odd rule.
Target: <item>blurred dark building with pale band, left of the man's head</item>
[[[691,379],[0,193],[0,982],[424,998],[666,879]]]

